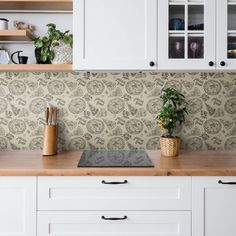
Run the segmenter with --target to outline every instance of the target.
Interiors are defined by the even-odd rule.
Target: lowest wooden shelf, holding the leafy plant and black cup
[[[1,64],[0,72],[72,72],[72,64]]]

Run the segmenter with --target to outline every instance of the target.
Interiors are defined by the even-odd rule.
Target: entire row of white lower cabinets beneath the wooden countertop
[[[235,218],[236,177],[0,177],[0,236],[235,236]]]

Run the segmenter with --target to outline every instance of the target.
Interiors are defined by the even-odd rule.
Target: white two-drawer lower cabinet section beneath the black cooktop
[[[37,236],[190,236],[191,177],[38,177]]]

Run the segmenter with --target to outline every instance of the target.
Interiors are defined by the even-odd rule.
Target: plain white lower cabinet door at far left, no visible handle
[[[36,235],[36,177],[0,177],[0,235]]]

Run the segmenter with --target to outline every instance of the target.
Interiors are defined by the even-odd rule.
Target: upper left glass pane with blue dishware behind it
[[[184,6],[170,5],[169,6],[169,30],[184,30]]]

